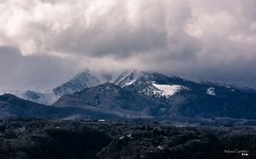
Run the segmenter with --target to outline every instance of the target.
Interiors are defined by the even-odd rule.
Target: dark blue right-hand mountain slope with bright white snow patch
[[[155,102],[155,116],[255,118],[256,92],[214,82],[191,82],[156,72],[124,87]]]

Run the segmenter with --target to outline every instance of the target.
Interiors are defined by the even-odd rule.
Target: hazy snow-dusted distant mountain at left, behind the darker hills
[[[71,80],[53,89],[2,91],[1,94],[14,94],[15,96],[43,105],[52,105],[65,94],[73,94],[96,85],[111,82],[113,76],[108,73],[96,74],[85,70],[74,76]]]

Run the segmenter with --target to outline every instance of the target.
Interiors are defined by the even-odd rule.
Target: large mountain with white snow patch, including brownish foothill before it
[[[214,82],[192,82],[149,71],[125,71],[113,83],[65,95],[54,105],[163,119],[256,118],[254,90]]]

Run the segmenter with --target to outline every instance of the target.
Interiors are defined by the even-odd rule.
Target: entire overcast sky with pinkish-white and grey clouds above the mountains
[[[0,0],[0,88],[138,69],[256,88],[255,0]]]

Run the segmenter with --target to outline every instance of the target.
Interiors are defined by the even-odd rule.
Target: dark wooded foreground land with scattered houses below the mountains
[[[0,158],[256,158],[256,128],[158,122],[0,121]]]

